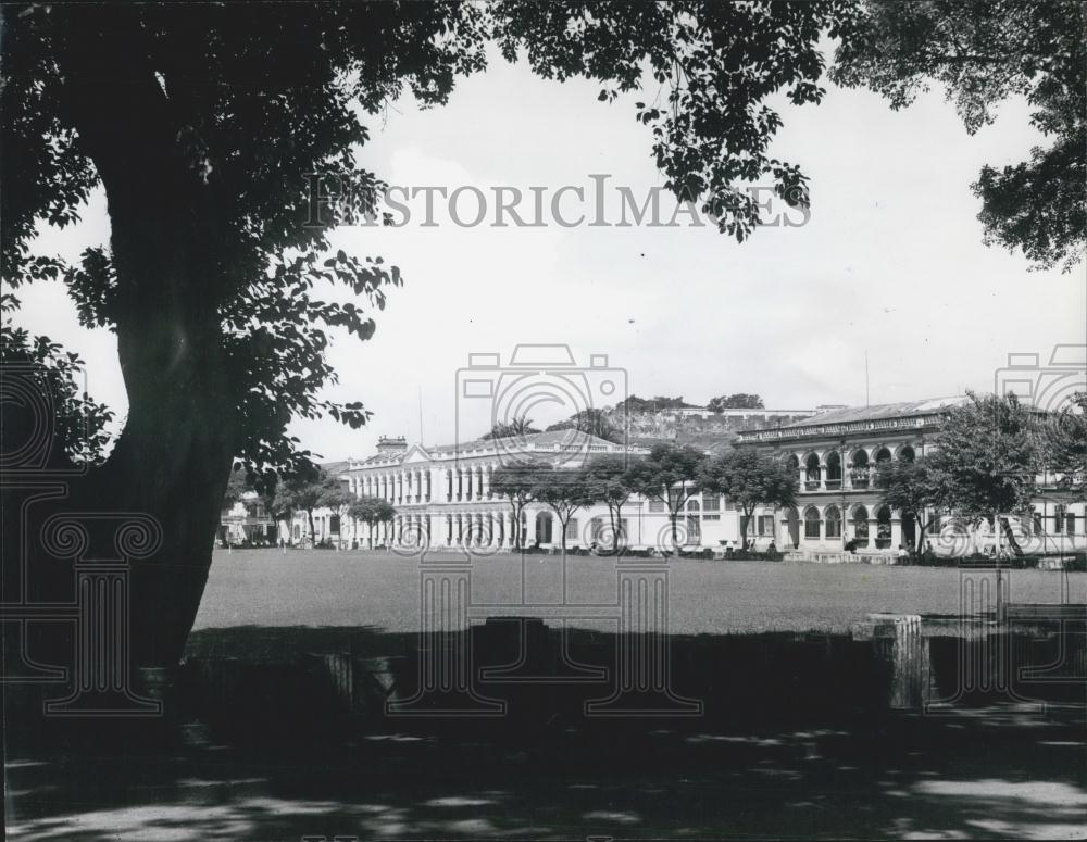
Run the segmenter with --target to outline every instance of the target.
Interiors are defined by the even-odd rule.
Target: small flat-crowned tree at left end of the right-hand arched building
[[[754,450],[736,450],[709,460],[702,467],[702,488],[724,494],[740,507],[740,542],[747,548],[747,530],[759,506],[791,506],[797,499],[797,478],[778,460]]]

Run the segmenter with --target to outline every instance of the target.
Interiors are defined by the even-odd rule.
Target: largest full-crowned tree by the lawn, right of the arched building
[[[1002,515],[1028,514],[1040,468],[1038,420],[1014,394],[970,393],[953,409],[937,439],[932,467],[946,482],[950,506],[975,521],[992,521],[999,545],[1001,529],[1019,552]]]

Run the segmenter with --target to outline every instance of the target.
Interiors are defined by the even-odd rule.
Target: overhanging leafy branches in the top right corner
[[[987,242],[1065,272],[1087,244],[1087,7],[1080,2],[869,0],[845,18],[830,78],[865,85],[891,106],[942,85],[971,134],[998,103],[1025,97],[1050,139],[1030,158],[983,167],[974,193]]]

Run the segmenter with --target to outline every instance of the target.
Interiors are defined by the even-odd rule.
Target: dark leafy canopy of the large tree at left
[[[63,280],[85,325],[124,336],[149,302],[177,294],[168,278],[140,272],[132,248],[173,226],[191,269],[178,306],[222,345],[236,455],[258,477],[297,469],[310,454],[285,432],[292,416],[366,419],[361,403],[317,397],[336,376],[328,328],[368,338],[400,282],[380,257],[328,254],[327,230],[305,224],[309,175],[378,188],[359,155],[388,103],[404,91],[443,103],[459,76],[485,68],[489,42],[545,78],[594,79],[609,102],[648,74],[665,99],[633,116],[650,126],[667,186],[742,239],[758,218],[745,184],[769,179],[788,202],[808,201],[799,168],[769,153],[780,118],[765,101],[779,91],[819,101],[817,39],[848,8],[283,3],[254,17],[232,3],[5,5],[4,281]],[[34,255],[38,226],[76,222],[97,185],[111,247],[76,265]],[[332,285],[363,305],[327,300]],[[161,307],[164,334],[177,318]]]

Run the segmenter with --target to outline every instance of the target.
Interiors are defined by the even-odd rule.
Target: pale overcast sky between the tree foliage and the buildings
[[[496,61],[462,80],[447,108],[398,103],[372,127],[362,163],[407,187],[474,186],[491,197],[496,186],[542,187],[547,209],[555,190],[580,187],[586,202],[567,193],[566,218],[591,215],[591,176],[607,174],[608,218],[617,222],[616,186],[640,201],[663,179],[634,120],[638,97],[608,105],[597,91]],[[974,137],[938,92],[896,113],[873,93],[830,87],[822,105],[782,112],[773,152],[810,176],[811,218],[744,244],[687,216],[676,227],[465,228],[440,198],[436,227],[418,226],[418,199],[404,227],[340,229],[337,247],[383,255],[404,286],[390,292],[371,341],[337,336],[330,349],[340,384],[329,393],[362,400],[372,424],[305,422],[295,432],[326,458],[367,455],[379,435],[417,440],[421,418],[426,443],[449,442],[457,369],[470,353],[504,362],[526,342],[569,344],[586,364],[607,354],[642,397],[703,403],[757,392],[769,407],[804,409],[863,405],[865,352],[871,402],[882,403],[991,389],[1009,352],[1045,362],[1055,342],[1084,341],[1082,265],[1028,272],[1021,254],[982,243],[970,184],[983,164],[1016,163],[1045,142],[1023,103],[1005,103]],[[475,201],[462,199],[460,215],[471,218]],[[667,221],[672,204],[662,206]],[[522,211],[530,216],[529,198]],[[72,256],[108,230],[98,197],[78,229],[45,235],[38,250]],[[114,337],[79,328],[60,285],[21,298],[17,322],[79,352],[92,394],[123,415]],[[555,414],[564,413],[544,407],[537,419]],[[486,423],[462,419],[461,435]]]

